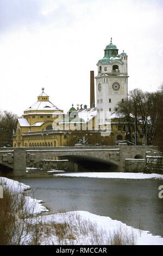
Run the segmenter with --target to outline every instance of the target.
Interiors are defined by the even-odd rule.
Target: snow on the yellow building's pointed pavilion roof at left
[[[62,110],[55,106],[51,101],[37,101],[32,106],[26,109],[26,111],[33,110]]]

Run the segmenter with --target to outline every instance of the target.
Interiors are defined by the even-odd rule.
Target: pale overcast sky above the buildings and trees
[[[22,115],[41,88],[59,108],[90,105],[90,70],[110,43],[129,90],[163,82],[163,0],[0,0],[0,110]]]

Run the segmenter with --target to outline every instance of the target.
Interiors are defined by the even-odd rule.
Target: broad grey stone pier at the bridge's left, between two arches
[[[26,176],[26,148],[14,148],[13,176]]]

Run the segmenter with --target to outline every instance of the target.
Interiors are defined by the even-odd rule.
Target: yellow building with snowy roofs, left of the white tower
[[[67,114],[49,101],[42,93],[37,101],[18,118],[13,134],[13,147],[61,147],[78,143],[101,142],[95,129],[96,108],[76,109],[73,106]]]

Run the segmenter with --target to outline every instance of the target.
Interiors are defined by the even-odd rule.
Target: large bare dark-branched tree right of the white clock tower
[[[142,92],[134,89],[129,92],[129,97],[124,102],[119,102],[117,111],[128,124],[129,139],[133,142],[132,132],[135,133],[135,144],[143,138],[143,144],[152,145],[156,135],[156,127],[160,116],[160,92]]]

